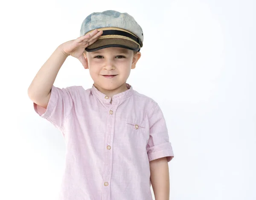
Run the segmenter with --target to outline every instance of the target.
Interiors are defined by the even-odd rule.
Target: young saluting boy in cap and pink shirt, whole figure
[[[169,200],[174,157],[159,105],[126,83],[140,59],[143,31],[127,13],[90,14],[80,37],[59,45],[28,89],[35,111],[61,130],[66,165],[60,200]],[[94,84],[53,86],[68,56]]]

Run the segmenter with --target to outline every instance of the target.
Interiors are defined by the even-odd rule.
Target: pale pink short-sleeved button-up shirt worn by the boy
[[[112,98],[96,87],[52,86],[35,111],[64,135],[59,200],[152,200],[149,161],[174,157],[159,105],[133,90]]]

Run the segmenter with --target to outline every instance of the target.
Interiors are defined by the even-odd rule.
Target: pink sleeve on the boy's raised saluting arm
[[[64,130],[64,120],[70,114],[73,107],[73,98],[70,93],[71,87],[58,88],[52,86],[47,108],[39,106],[35,102],[34,110],[42,118],[50,121],[55,127]]]

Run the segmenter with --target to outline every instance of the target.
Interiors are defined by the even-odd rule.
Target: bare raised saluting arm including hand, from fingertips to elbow
[[[51,96],[52,85],[56,79],[58,71],[69,55],[79,59],[84,68],[87,68],[87,60],[84,58],[84,49],[96,42],[103,31],[93,30],[90,34],[78,37],[63,44],[52,53],[49,59],[40,68],[32,83],[28,88],[29,98],[41,107],[47,109]]]

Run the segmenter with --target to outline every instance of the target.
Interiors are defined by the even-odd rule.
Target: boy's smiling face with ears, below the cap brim
[[[124,86],[140,56],[140,52],[134,55],[132,50],[119,47],[84,53],[95,87],[104,90]]]

